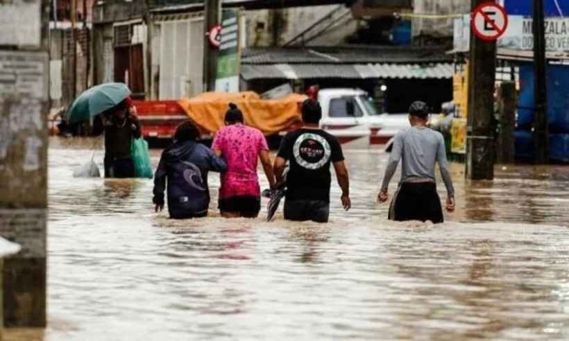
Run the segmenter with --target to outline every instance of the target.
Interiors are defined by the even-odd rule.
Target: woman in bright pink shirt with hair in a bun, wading
[[[222,155],[228,169],[221,175],[219,210],[226,218],[256,218],[261,210],[261,189],[257,160],[261,163],[271,189],[275,187],[273,166],[266,139],[258,129],[244,125],[243,113],[230,103],[225,124],[214,137],[212,149]]]

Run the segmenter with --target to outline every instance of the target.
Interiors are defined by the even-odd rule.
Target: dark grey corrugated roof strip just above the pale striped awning
[[[445,49],[414,46],[339,46],[245,49],[242,64],[368,64],[452,62]]]

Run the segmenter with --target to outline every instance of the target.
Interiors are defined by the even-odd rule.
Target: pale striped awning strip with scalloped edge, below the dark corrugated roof
[[[255,79],[306,78],[452,78],[450,63],[432,64],[241,64],[241,77]]]

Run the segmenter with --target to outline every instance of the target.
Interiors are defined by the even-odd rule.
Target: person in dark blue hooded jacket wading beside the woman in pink
[[[210,206],[207,173],[225,172],[227,165],[210,148],[196,142],[198,136],[198,128],[191,121],[185,121],[176,129],[171,146],[162,152],[154,175],[153,202],[156,212],[164,209],[164,189],[168,180],[170,218],[207,216]]]

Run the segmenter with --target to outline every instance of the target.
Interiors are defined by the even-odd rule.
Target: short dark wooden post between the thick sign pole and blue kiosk
[[[500,134],[497,143],[497,159],[499,164],[513,164],[515,161],[513,129],[516,125],[516,103],[516,83],[502,82],[498,89]]]

